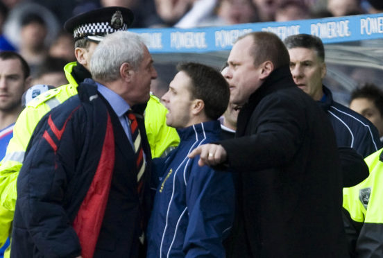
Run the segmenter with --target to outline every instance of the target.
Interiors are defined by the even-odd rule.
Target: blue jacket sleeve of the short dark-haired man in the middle
[[[195,157],[187,179],[185,257],[225,257],[223,239],[231,230],[235,212],[232,175],[200,167],[197,162]]]

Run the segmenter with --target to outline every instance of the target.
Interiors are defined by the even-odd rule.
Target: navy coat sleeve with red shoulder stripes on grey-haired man
[[[78,139],[74,135],[82,135],[82,132],[74,132],[72,120],[65,125],[53,121],[49,124],[46,120],[40,121],[44,126],[35,130],[19,173],[16,209],[44,257],[76,257],[81,252],[80,243],[63,200],[70,173],[73,173],[70,168],[76,164]],[[53,132],[55,126],[62,131]]]

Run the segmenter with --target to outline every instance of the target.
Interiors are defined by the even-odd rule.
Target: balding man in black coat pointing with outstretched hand
[[[228,257],[346,257],[342,176],[325,112],[296,87],[273,33],[240,37],[228,57],[235,139],[199,146],[199,164],[237,172]]]

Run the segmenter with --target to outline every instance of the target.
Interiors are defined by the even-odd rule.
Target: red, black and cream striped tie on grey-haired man
[[[144,175],[145,171],[144,150],[142,149],[141,134],[139,133],[137,117],[132,110],[128,110],[127,116],[130,122],[130,132],[132,133],[132,141],[134,146],[133,150],[135,151],[135,165],[137,169],[138,182],[137,191],[140,195],[143,184],[142,175]]]

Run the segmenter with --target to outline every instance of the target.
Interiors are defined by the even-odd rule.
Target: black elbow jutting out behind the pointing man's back
[[[370,173],[364,157],[355,149],[339,147],[338,151],[343,173],[343,187],[353,187],[368,177]]]

